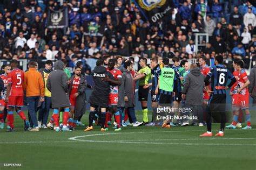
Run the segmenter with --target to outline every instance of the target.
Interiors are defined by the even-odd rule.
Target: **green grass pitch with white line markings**
[[[139,111],[137,118],[142,119]],[[0,130],[0,169],[256,169],[254,129],[226,130],[223,138],[199,138],[206,127],[141,126],[121,132],[94,128],[90,132],[82,126],[72,132],[25,132],[15,115],[16,132]],[[214,134],[218,129],[219,124],[213,124]],[[99,135],[87,136],[91,134]],[[69,139],[76,136],[82,137]],[[22,166],[4,167],[4,163]]]

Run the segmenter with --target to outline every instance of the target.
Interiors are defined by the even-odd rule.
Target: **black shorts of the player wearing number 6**
[[[212,94],[208,101],[207,111],[225,112],[225,110],[226,110],[226,95]]]

